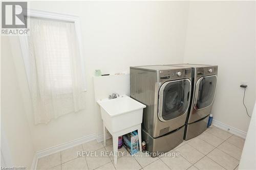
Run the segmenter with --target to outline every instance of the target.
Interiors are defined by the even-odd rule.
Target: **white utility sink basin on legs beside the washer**
[[[146,106],[127,95],[98,100],[97,103],[103,124],[111,134],[142,123],[143,108]]]

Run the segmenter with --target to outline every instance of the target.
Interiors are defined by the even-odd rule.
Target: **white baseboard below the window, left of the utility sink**
[[[86,143],[86,142],[89,142],[89,141],[95,140],[95,139],[97,139],[97,141],[98,141],[98,138],[96,137],[96,134],[92,134],[92,135],[84,136],[84,137],[81,137],[81,138],[78,138],[78,139],[75,139],[75,140],[71,140],[71,141],[66,142],[66,143],[56,145],[56,146],[48,148],[48,149],[38,151],[34,155],[34,159],[33,159],[32,165],[31,165],[31,169],[36,169],[38,158],[45,157],[45,156],[54,154],[54,153],[59,152],[59,151],[66,150],[66,149],[75,147],[76,145]],[[103,137],[102,137],[102,141],[103,141]]]

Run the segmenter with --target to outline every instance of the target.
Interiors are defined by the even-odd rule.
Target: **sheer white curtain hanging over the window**
[[[28,80],[35,124],[84,109],[84,76],[75,25],[30,18]]]

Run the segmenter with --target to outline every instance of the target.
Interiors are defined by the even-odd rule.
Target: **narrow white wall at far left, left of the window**
[[[8,144],[8,148],[6,148],[7,145],[4,145],[5,142]],[[1,153],[6,150],[9,150],[9,153],[4,155],[6,166],[30,168],[35,150],[18,85],[10,43],[7,37],[1,37]],[[8,160],[6,156],[8,156]]]

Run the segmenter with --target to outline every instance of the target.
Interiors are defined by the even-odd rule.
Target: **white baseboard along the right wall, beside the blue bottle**
[[[232,134],[237,135],[239,137],[242,137],[244,139],[246,138],[246,134],[247,134],[246,132],[243,132],[243,131],[238,130],[236,128],[225,125],[225,124],[223,124],[223,123],[221,123],[221,122],[219,122],[215,119],[212,120],[212,124],[214,124],[214,126],[220,128],[220,129],[228,131],[229,133],[232,133]]]

